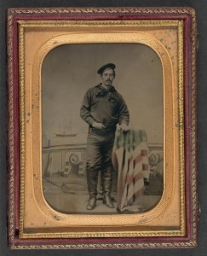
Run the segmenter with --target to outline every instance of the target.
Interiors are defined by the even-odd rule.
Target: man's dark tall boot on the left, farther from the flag
[[[98,172],[95,170],[87,170],[87,183],[89,190],[89,202],[87,210],[93,210],[96,206]]]

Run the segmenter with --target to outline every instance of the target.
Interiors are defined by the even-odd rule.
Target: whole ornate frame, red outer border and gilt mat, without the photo
[[[156,29],[172,28],[177,36],[175,63],[166,45],[152,35]],[[9,246],[196,246],[197,30],[194,10],[9,9],[8,32]],[[35,34],[38,40],[34,43],[29,37],[37,32],[40,35]],[[70,34],[72,37],[68,37]],[[192,40],[187,39],[189,35]],[[136,216],[63,214],[49,207],[43,198],[40,97],[43,58],[58,45],[91,43],[145,44],[154,49],[162,61],[164,195],[157,207]],[[106,240],[109,237],[110,241]]]

